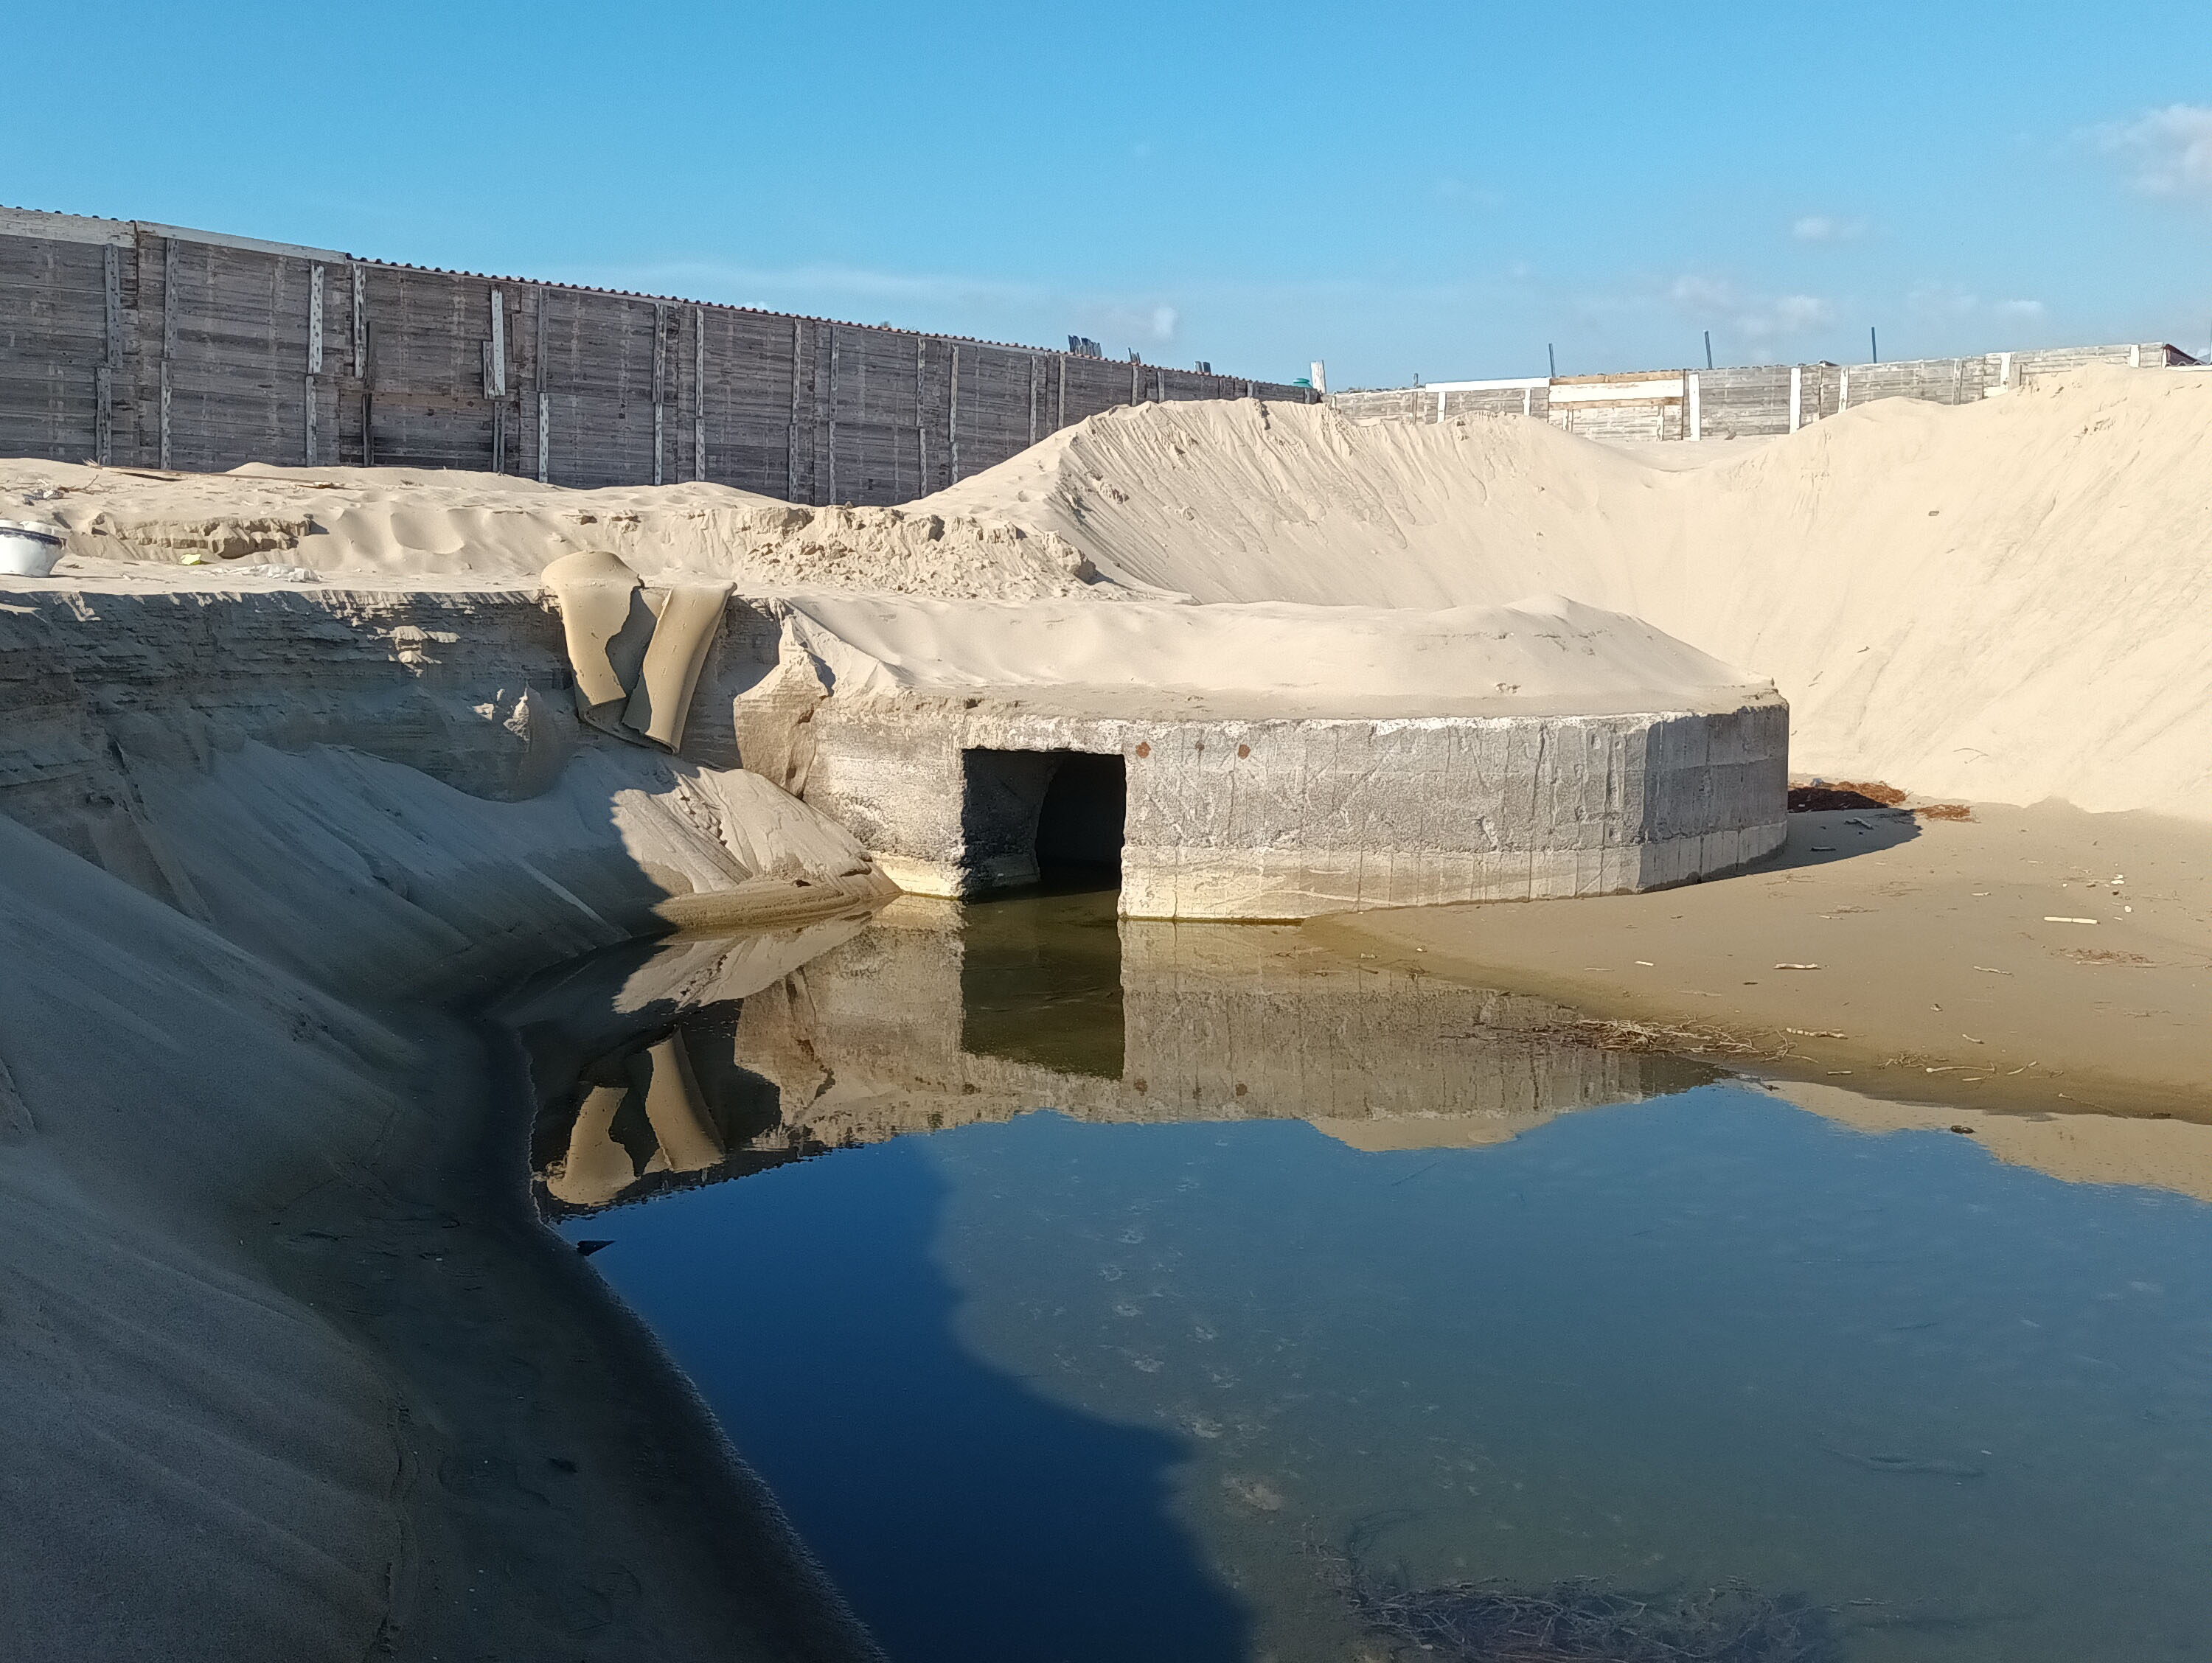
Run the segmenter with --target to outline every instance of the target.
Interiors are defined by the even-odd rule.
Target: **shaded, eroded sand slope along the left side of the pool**
[[[754,774],[462,714],[513,628],[159,610],[0,608],[0,1652],[867,1656],[438,1002],[883,880]]]

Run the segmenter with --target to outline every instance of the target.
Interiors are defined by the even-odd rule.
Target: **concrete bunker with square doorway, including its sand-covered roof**
[[[1126,918],[1290,920],[1657,889],[1783,843],[1781,694],[1557,597],[770,610],[785,674],[737,699],[741,747],[792,759],[781,783],[914,893],[1117,862]],[[1203,683],[1254,663],[1305,681]]]

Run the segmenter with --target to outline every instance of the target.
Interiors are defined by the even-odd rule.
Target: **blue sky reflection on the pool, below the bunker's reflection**
[[[1969,1139],[1734,1086],[1405,1152],[1031,1115],[571,1234],[909,1663],[1354,1659],[1354,1530],[1805,1592],[1851,1659],[2212,1652],[2212,1212]]]

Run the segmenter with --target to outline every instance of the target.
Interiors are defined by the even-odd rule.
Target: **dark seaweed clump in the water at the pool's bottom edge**
[[[1380,1639],[1438,1663],[1836,1663],[1834,1614],[1743,1583],[1626,1594],[1577,1577],[1383,1588],[1349,1575],[1354,1612]]]

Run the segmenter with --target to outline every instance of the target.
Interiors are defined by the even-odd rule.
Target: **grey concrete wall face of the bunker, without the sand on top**
[[[1037,876],[1048,767],[1124,759],[1128,918],[1312,918],[1595,896],[1730,871],[1781,847],[1790,712],[1124,719],[1004,699],[832,699],[805,801],[916,893]],[[978,754],[989,789],[978,792]]]

